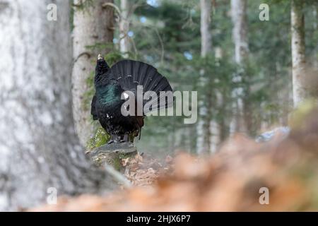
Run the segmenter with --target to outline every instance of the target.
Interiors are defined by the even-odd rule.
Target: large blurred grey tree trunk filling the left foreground
[[[69,1],[0,0],[0,210],[112,186],[88,164],[73,128]],[[105,185],[105,182],[110,184]]]

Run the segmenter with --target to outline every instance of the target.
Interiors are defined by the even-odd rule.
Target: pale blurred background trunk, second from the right
[[[244,69],[245,61],[247,60],[249,47],[247,37],[247,1],[246,0],[231,0],[231,13],[233,23],[233,42],[235,44],[235,62]],[[240,73],[233,78],[235,83],[242,83]],[[248,87],[247,87],[248,89]],[[243,97],[247,95],[247,90],[238,85],[232,91],[232,98],[235,100],[233,105],[233,117],[230,124],[230,133],[247,132],[247,121],[249,119],[249,110],[245,110],[248,104],[245,103]]]

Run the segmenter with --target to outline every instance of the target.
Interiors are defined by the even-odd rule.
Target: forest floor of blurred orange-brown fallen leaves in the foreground
[[[123,160],[134,186],[100,197],[60,198],[40,211],[318,210],[318,109],[288,137],[257,143],[237,134],[211,157],[179,153]],[[269,204],[263,203],[269,191]],[[124,191],[123,191],[124,190]],[[261,202],[260,202],[261,201]]]

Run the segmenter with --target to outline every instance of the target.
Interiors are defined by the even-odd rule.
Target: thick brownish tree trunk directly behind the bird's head
[[[73,118],[81,145],[93,133],[90,116],[90,101],[93,98],[92,84],[88,78],[93,76],[98,54],[106,54],[114,39],[113,8],[105,6],[112,0],[74,0],[73,28]]]

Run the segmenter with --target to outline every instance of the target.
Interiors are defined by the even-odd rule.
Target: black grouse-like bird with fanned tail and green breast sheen
[[[91,114],[93,119],[99,120],[102,128],[110,134],[109,143],[131,141],[131,137],[136,136],[140,139],[143,118],[148,112],[143,111],[141,115],[129,116],[124,116],[121,112],[122,105],[126,102],[122,100],[122,93],[125,91],[134,93],[136,106],[138,105],[136,93],[139,85],[143,87],[143,94],[147,91],[157,94],[155,100],[151,99],[155,105],[152,105],[153,109],[150,108],[148,112],[172,106],[173,100],[169,98],[166,100],[166,97],[164,97],[165,105],[159,105],[160,91],[172,92],[172,88],[167,78],[160,75],[153,66],[139,61],[123,60],[110,68],[105,59],[98,55],[95,69],[96,93],[91,105]],[[146,102],[143,100],[143,107]]]

